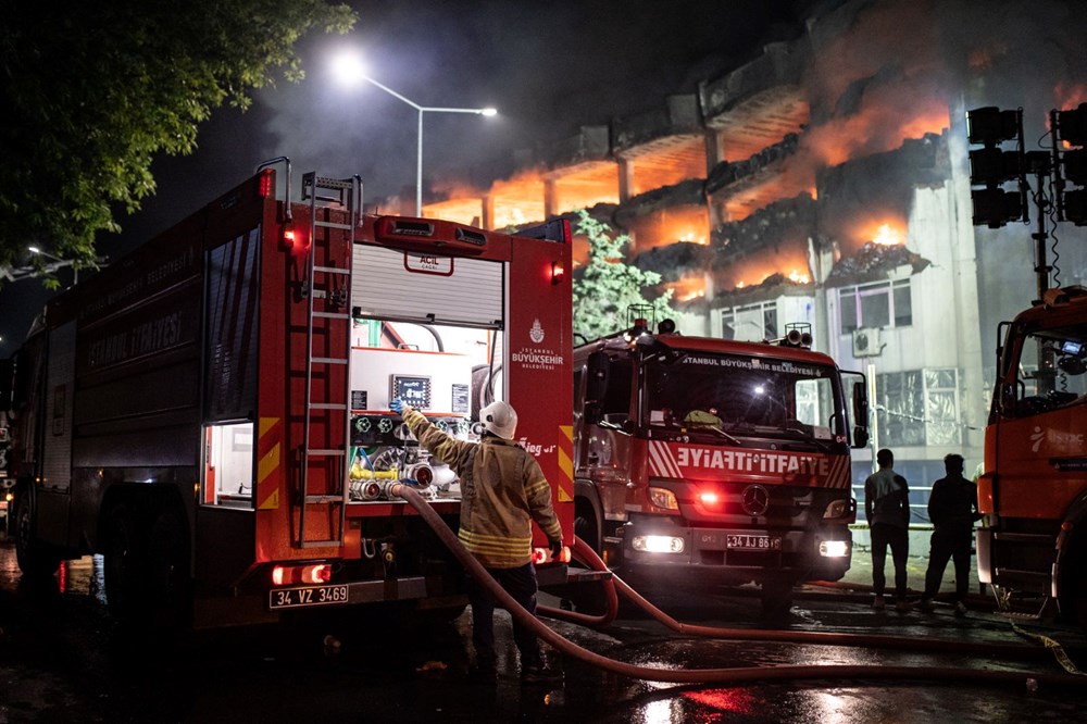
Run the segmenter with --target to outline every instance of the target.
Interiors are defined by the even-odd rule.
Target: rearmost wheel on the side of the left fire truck
[[[190,611],[189,537],[185,517],[167,503],[155,516],[147,547],[148,609],[161,627],[183,626]]]

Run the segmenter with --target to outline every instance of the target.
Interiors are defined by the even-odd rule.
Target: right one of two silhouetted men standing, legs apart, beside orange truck
[[[934,530],[928,552],[928,571],[925,573],[925,594],[919,608],[932,611],[933,598],[940,589],[948,560],[954,560],[955,602],[954,614],[966,614],[966,592],[970,590],[970,552],[974,537],[974,521],[982,519],[977,512],[977,486],[962,476],[962,455],[951,453],[944,458],[947,475],[933,484],[928,499],[928,520]]]

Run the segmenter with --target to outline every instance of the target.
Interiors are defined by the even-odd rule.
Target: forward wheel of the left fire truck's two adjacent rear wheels
[[[121,621],[132,621],[143,607],[147,542],[129,507],[117,503],[105,516],[103,539],[105,602]]]

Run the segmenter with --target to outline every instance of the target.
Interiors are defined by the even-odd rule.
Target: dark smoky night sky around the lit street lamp
[[[118,219],[122,235],[101,237],[99,253],[124,255],[278,155],[291,159],[296,187],[302,173],[317,171],[360,174],[367,201],[413,196],[416,112],[367,84],[338,86],[329,64],[341,48],[360,52],[368,75],[421,105],[498,109],[491,118],[425,114],[425,179],[502,176],[520,149],[694,92],[765,42],[796,37],[795,17],[803,14],[788,0],[350,4],[360,16],[350,35],[311,34],[299,45],[302,83],[257,92],[246,113],[217,110],[195,154],[157,160],[157,195]],[[59,275],[71,282],[67,270]],[[13,351],[47,297],[33,279],[0,291],[0,355]]]

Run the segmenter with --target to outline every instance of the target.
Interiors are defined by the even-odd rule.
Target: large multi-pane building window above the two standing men
[[[959,371],[910,370],[876,375],[879,447],[960,445]]]

